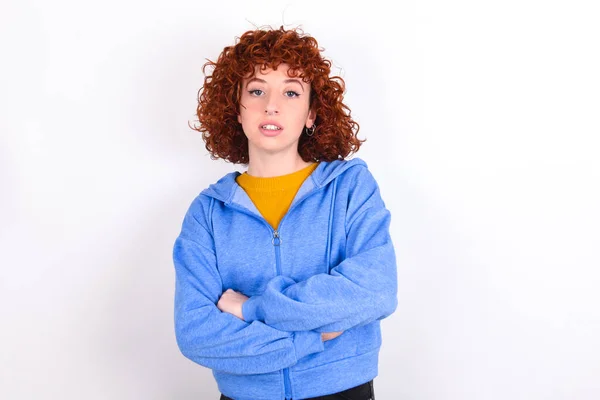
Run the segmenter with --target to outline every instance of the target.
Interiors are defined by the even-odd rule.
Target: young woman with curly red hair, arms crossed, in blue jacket
[[[397,306],[390,213],[356,152],[344,81],[316,40],[256,30],[199,97],[214,159],[247,165],[204,189],[173,250],[181,352],[221,399],[374,399],[380,320]]]

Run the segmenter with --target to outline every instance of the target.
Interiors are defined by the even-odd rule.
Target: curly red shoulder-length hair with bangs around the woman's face
[[[241,84],[254,75],[255,67],[277,69],[289,66],[288,74],[311,85],[310,108],[316,112],[316,129],[300,135],[298,153],[306,162],[344,159],[366,140],[357,138],[359,125],[342,102],[345,82],[330,77],[331,62],[321,57],[317,41],[300,29],[254,30],[236,38],[223,49],[217,62],[202,67],[204,86],[198,91],[198,126],[212,159],[248,164],[248,139],[238,122]],[[213,68],[207,75],[207,67]]]

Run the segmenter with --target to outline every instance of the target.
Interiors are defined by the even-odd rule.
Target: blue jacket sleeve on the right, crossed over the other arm
[[[356,174],[346,213],[346,258],[329,274],[295,282],[285,276],[242,307],[246,321],[284,331],[342,331],[385,318],[397,307],[397,272],[390,212],[364,167]]]

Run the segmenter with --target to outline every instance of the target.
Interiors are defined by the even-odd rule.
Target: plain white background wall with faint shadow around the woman
[[[377,400],[600,398],[592,1],[2,0],[0,398],[217,399],[173,327],[173,242],[239,169],[201,67],[300,25],[392,211]]]

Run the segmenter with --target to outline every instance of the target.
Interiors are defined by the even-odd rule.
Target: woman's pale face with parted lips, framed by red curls
[[[309,110],[310,84],[288,76],[288,69],[286,64],[264,71],[257,66],[254,76],[242,82],[238,122],[248,138],[250,159],[277,153],[296,156],[303,128],[315,122]]]

